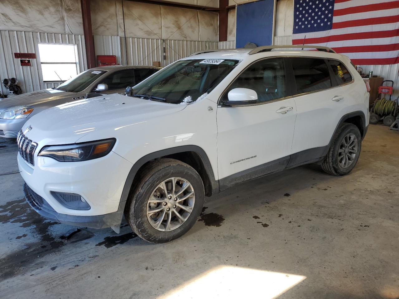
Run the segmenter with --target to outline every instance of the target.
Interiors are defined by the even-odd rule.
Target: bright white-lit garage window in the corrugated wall
[[[76,45],[39,43],[44,82],[66,81],[78,73]]]

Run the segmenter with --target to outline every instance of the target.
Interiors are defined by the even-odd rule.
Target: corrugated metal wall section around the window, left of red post
[[[79,56],[79,72],[86,69],[85,42],[83,35],[40,33],[25,31],[0,31],[0,81],[4,78],[18,79],[23,92],[50,88],[57,83],[43,83],[40,67],[38,43],[59,43],[77,45]],[[36,59],[31,59],[32,67],[22,67],[20,59],[14,58],[14,53],[36,53]],[[4,85],[0,91],[8,94]]]

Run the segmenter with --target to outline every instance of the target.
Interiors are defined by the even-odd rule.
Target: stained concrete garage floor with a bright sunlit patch
[[[237,185],[158,245],[45,220],[19,173],[0,175],[0,297],[399,298],[398,148],[371,125],[350,175],[311,165]],[[18,171],[15,144],[0,165]]]

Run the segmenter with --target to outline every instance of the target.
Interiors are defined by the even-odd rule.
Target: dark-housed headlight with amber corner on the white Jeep
[[[108,155],[116,142],[115,138],[65,146],[45,146],[39,156],[50,157],[60,162],[87,161]]]

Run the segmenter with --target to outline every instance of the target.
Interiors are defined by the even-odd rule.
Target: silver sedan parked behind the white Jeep
[[[0,99],[0,137],[16,138],[33,115],[66,102],[84,98],[90,92],[123,92],[158,71],[160,67],[112,65],[96,67],[65,81],[58,87]]]

